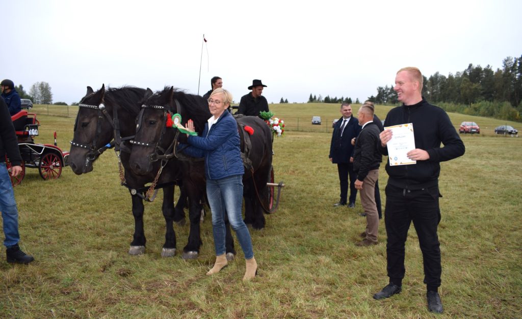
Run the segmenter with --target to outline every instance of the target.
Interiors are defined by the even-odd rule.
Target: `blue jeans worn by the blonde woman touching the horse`
[[[238,237],[245,259],[254,257],[250,232],[243,222],[241,208],[243,204],[243,176],[233,175],[221,179],[207,179],[207,197],[212,212],[212,231],[216,255],[225,250],[225,213],[230,226]]]

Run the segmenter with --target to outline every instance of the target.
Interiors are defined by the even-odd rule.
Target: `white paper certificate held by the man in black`
[[[415,149],[413,124],[388,126],[384,129],[392,130],[392,139],[386,143],[390,166],[416,164],[417,161],[410,160],[406,155]]]

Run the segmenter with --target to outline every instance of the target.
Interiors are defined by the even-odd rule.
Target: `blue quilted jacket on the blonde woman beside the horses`
[[[183,153],[193,157],[205,157],[205,176],[221,179],[233,175],[243,175],[245,169],[241,160],[238,122],[229,112],[223,112],[210,131],[208,123],[201,136],[189,136],[189,146],[180,143]]]

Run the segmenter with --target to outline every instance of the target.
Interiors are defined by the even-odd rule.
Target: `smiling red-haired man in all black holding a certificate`
[[[428,309],[441,313],[442,301],[437,290],[441,285],[442,267],[437,226],[441,220],[438,198],[442,195],[438,190],[438,175],[440,162],[463,155],[465,147],[446,112],[422,97],[422,74],[418,68],[400,69],[395,77],[394,90],[402,106],[393,108],[385,123],[386,126],[413,124],[416,149],[409,151],[407,156],[416,164],[391,166],[389,158],[386,164],[389,178],[384,222],[388,236],[386,257],[389,284],[375,293],[373,298],[388,298],[401,291],[406,272],[406,237],[413,222],[422,251]],[[388,155],[386,145],[392,139],[392,130],[384,130],[379,138],[381,152]],[[444,144],[442,148],[441,143]]]

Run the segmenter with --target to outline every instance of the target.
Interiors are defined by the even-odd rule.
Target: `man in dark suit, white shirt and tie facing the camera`
[[[359,135],[361,127],[359,120],[352,116],[352,106],[349,103],[342,103],[340,109],[342,117],[337,121],[330,143],[330,162],[337,164],[340,182],[340,199],[334,206],[346,205],[355,207],[357,199],[357,189],[355,189],[355,172],[353,171],[353,145],[351,140]],[[350,198],[348,195],[348,177],[350,178]]]

